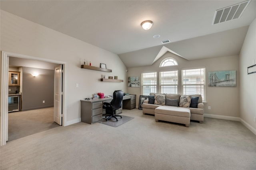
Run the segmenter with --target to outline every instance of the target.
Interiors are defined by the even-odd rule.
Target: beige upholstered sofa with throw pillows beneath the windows
[[[154,104],[152,104],[153,96],[155,99]],[[158,96],[160,97],[164,96],[165,102],[159,104],[159,102],[156,101],[156,98],[158,98]],[[190,96],[190,101],[186,99],[186,102],[188,103],[184,104],[182,103],[181,99],[186,98],[186,96]],[[155,109],[159,106],[176,107],[175,109],[186,108],[186,109],[190,109],[190,120],[199,121],[199,123],[203,123],[204,121],[204,104],[202,103],[202,96],[200,94],[180,95],[180,94],[150,93],[148,97],[149,99],[145,100],[144,103],[142,104],[143,114],[155,115]],[[151,99],[151,104],[150,104],[150,99]],[[194,99],[198,99],[198,100],[194,100]],[[191,102],[193,103],[193,106],[191,106],[192,105]],[[181,104],[183,104],[182,107],[181,107]]]

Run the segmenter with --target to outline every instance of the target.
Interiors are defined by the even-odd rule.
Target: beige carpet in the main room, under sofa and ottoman
[[[142,110],[119,127],[76,123],[10,141],[1,170],[255,170],[256,135],[242,123],[205,118],[190,127]]]

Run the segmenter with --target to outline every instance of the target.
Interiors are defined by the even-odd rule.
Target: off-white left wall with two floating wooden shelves
[[[126,92],[126,67],[118,55],[64,35],[42,25],[25,20],[1,10],[1,51],[42,57],[67,62],[67,121],[80,118],[80,100],[93,93],[113,94],[114,90]],[[86,30],[85,30],[86,31]],[[81,69],[90,61],[92,66],[106,64],[111,73]],[[101,75],[118,76],[124,82],[100,82]],[[76,88],[76,84],[79,87]]]

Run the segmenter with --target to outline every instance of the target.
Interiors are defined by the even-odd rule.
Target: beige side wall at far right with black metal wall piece
[[[256,19],[250,24],[240,52],[240,118],[256,129],[256,73],[247,74],[247,67],[256,64]]]

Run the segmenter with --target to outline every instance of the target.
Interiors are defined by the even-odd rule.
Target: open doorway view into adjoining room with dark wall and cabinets
[[[54,122],[54,68],[56,63],[9,57],[8,141],[59,127]],[[10,84],[10,73],[18,73]],[[19,79],[17,79],[19,78]],[[61,86],[61,85],[59,85]],[[18,109],[10,100],[18,95]],[[14,109],[14,110],[13,110]]]

